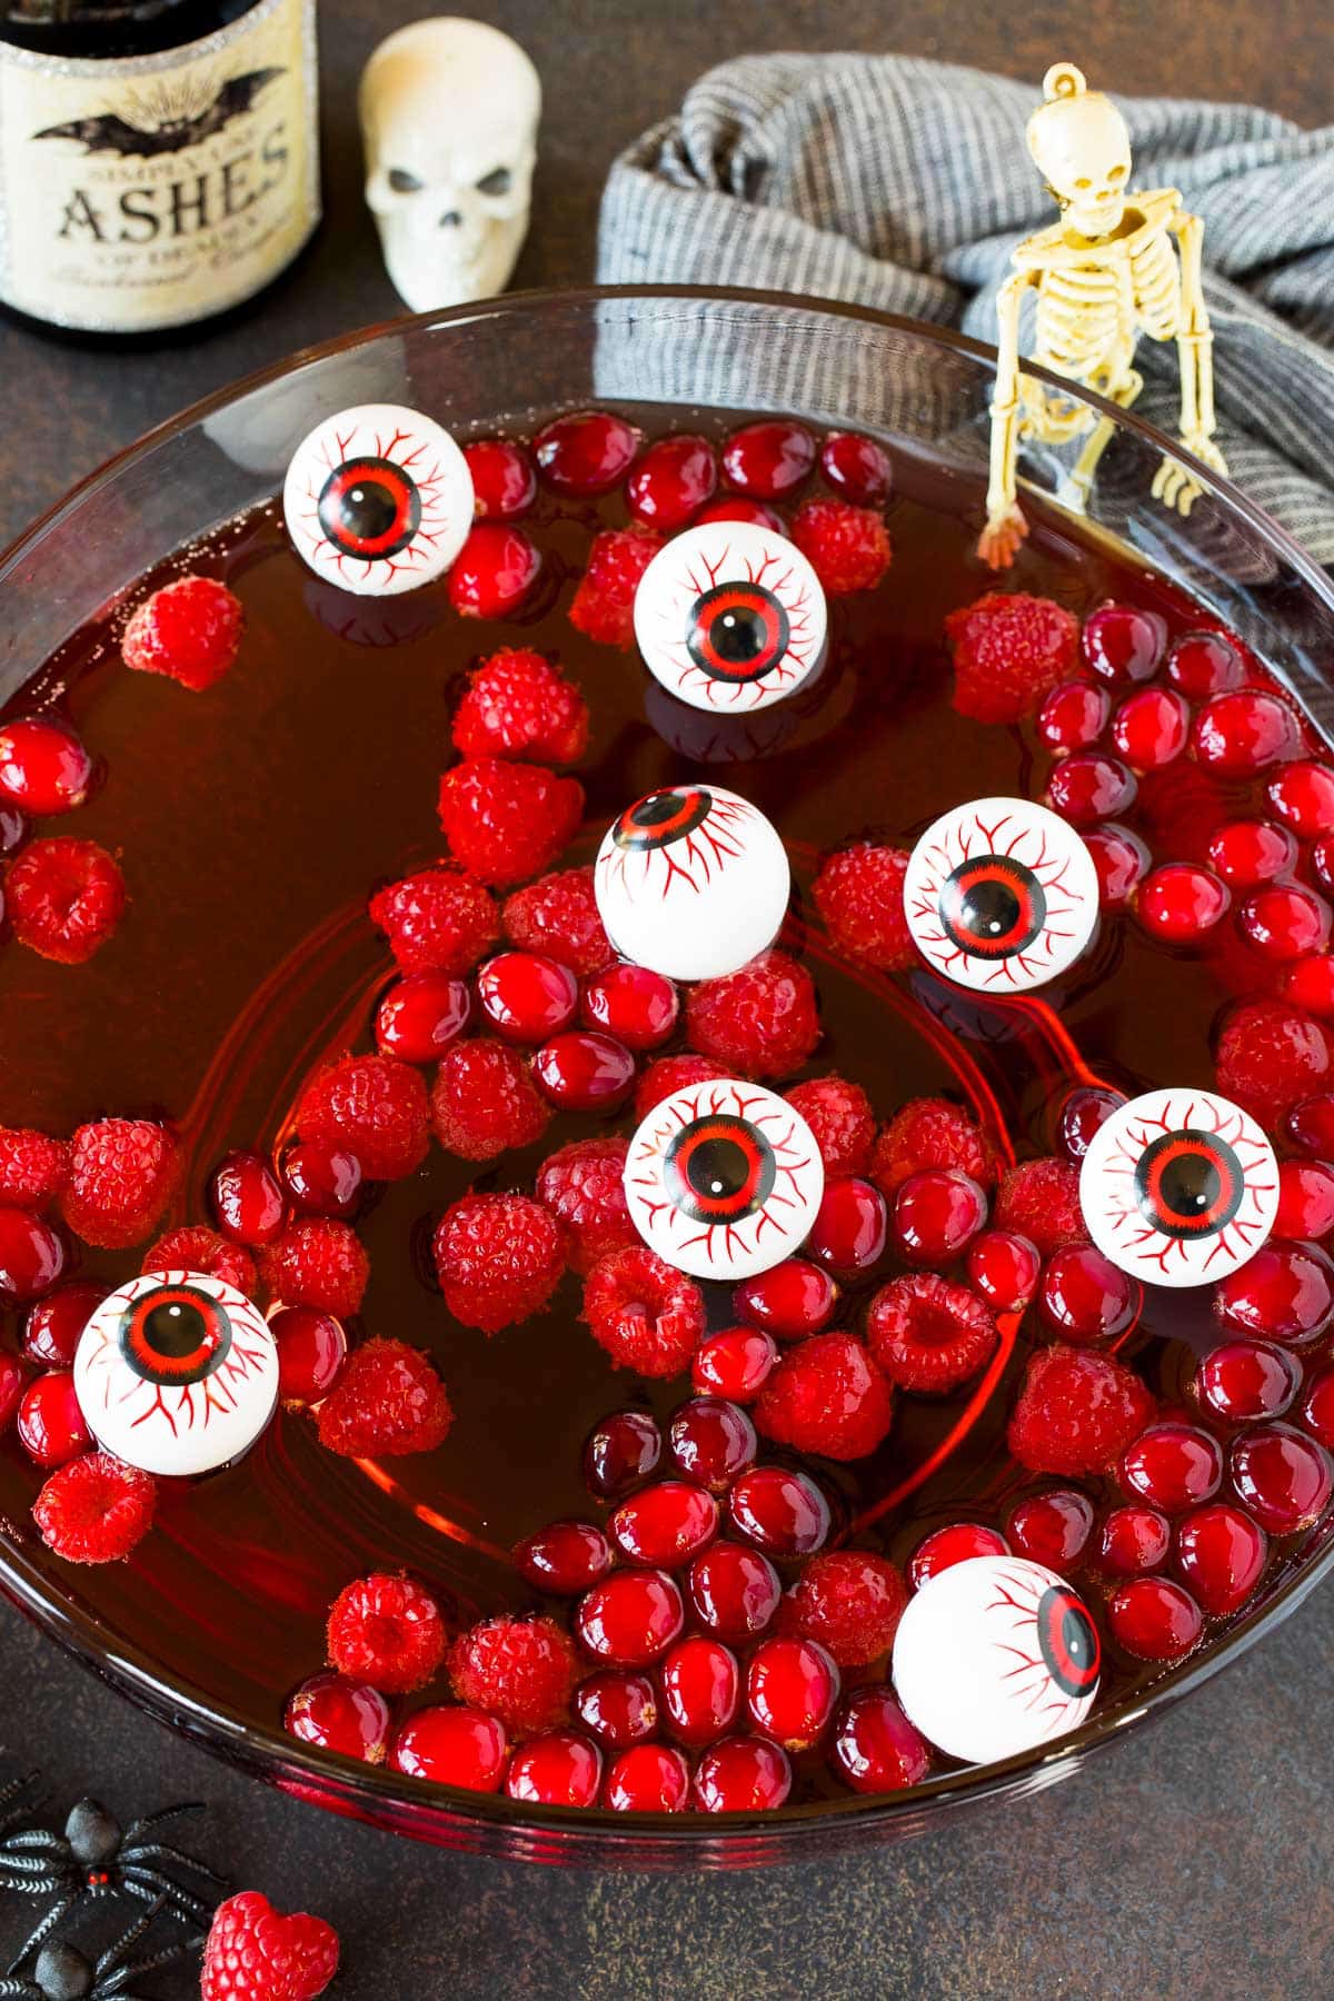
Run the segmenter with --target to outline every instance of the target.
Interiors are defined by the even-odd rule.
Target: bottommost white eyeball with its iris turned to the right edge
[[[908,1599],[894,1689],[940,1751],[990,1765],[1076,1729],[1102,1649],[1084,1603],[1040,1563],[970,1557]]]

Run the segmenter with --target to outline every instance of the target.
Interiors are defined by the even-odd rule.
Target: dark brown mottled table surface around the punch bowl
[[[398,310],[360,200],[354,92],[408,0],[324,0],[328,220],[256,310],[110,352],[0,320],[0,536],[196,396]],[[864,48],[1038,80],[1076,56],[1120,92],[1258,98],[1334,114],[1334,12],[1310,0],[500,0],[546,116],[522,284],[590,278],[612,154],[690,80],[760,48]],[[596,110],[594,110],[596,106]],[[1302,1995],[1334,1963],[1334,1593],[1092,1771],[898,1849],[766,1875],[502,1867],[412,1847],[272,1795],[144,1721],[0,1607],[0,1743],[54,1803],[122,1817],[206,1799],[236,1883],[344,1937],[346,2001],[626,1995]],[[14,1905],[0,1907],[0,1943]],[[188,1983],[162,1977],[158,1991]]]

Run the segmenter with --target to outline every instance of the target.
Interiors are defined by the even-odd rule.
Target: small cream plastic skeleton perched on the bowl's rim
[[[1000,288],[992,466],[986,528],[978,554],[994,568],[1014,562],[1028,524],[1014,492],[1020,438],[1064,444],[1088,434],[1062,498],[1082,508],[1112,420],[1094,420],[1078,398],[1064,398],[1020,374],[1020,304],[1038,294],[1034,360],[1128,408],[1144,386],[1134,368],[1140,332],[1176,340],[1182,370],[1182,444],[1216,472],[1226,472],[1214,444],[1212,334],[1200,286],[1204,224],[1186,214],[1174,188],[1128,196],[1130,134],[1116,106],[1086,90],[1072,62],[1042,80],[1046,102],[1028,120],[1032,152],[1062,208],[1060,222],[1026,236],[1014,272]],[[1170,242],[1180,242],[1178,254]],[[1154,498],[1188,514],[1200,486],[1174,458],[1154,478]]]

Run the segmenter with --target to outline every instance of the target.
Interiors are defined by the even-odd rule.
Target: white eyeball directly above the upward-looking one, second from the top
[[[746,714],[810,680],[824,656],[820,578],[772,528],[708,520],[660,548],[634,592],[654,680],[690,708]]]

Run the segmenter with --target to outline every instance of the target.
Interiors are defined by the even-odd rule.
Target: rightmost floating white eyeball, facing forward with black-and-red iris
[[[1260,1249],[1278,1215],[1278,1161],[1240,1105],[1148,1091],[1094,1133],[1080,1209],[1104,1257],[1150,1285],[1208,1285]]]

